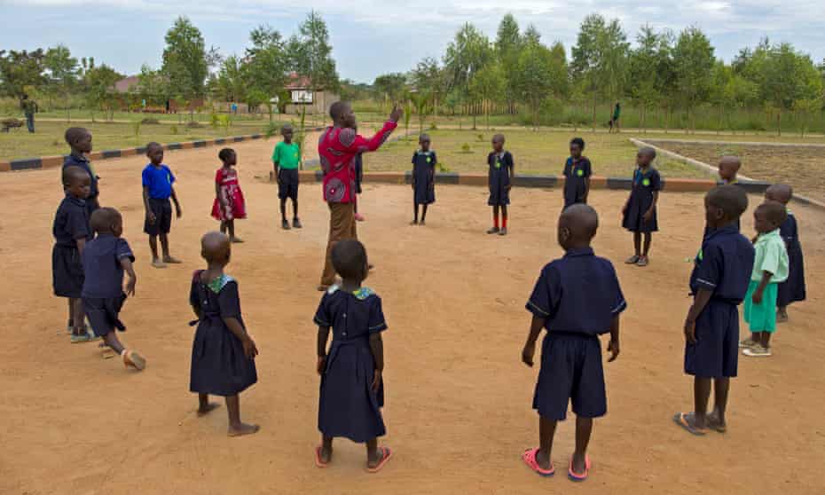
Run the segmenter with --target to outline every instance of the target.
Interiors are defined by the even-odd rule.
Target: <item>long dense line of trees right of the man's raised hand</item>
[[[622,100],[639,112],[642,128],[655,115],[666,129],[678,112],[695,130],[697,114],[712,112],[717,130],[734,129],[729,116],[749,112],[770,115],[781,133],[787,114],[802,122],[802,132],[813,119],[822,120],[823,81],[825,63],[816,66],[790,43],[764,39],[726,63],[698,27],[677,34],[644,26],[632,45],[618,20],[598,14],[581,23],[568,60],[562,43],[547,45],[535,27],[522,31],[507,14],[495,40],[465,24],[441,60],[423,59],[406,74],[381,75],[372,92],[388,103],[425,95],[436,114],[471,115],[474,127],[476,115],[512,114],[535,126],[568,118],[595,128],[601,123],[597,110]]]

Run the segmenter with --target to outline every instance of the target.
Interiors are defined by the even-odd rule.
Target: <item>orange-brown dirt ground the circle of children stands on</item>
[[[328,213],[320,187],[302,188],[303,231],[276,224],[275,187],[256,179],[271,166],[274,141],[239,143],[248,220],[228,272],[240,281],[250,332],[261,350],[259,382],[241,397],[259,434],[225,436],[225,407],[195,416],[188,391],[193,329],[187,305],[199,238],[208,216],[216,148],[169,153],[184,217],[171,234],[185,263],[149,264],[141,233],[142,157],[101,161],[101,202],[122,210],[124,237],[138,261],[138,295],[122,318],[125,342],[148,358],[142,373],[69,344],[66,303],[51,295],[51,222],[61,198],[55,169],[0,174],[0,493],[822,493],[825,353],[821,321],[825,214],[796,208],[809,301],[791,307],[774,337],[774,357],[740,360],[727,435],[702,438],[673,425],[692,407],[682,373],[681,324],[688,309],[685,259],[702,232],[701,196],[663,193],[647,269],[621,263],[632,248],[619,224],[623,192],[594,191],[601,230],[594,248],[613,260],[629,303],[622,355],[605,365],[609,413],[596,423],[590,479],[565,479],[573,423],[560,425],[544,479],[520,460],[538,444],[530,409],[538,369],[520,353],[530,315],[525,300],[555,244],[559,190],[515,190],[511,235],[487,236],[483,188],[439,186],[427,227],[408,225],[408,187],[366,185],[359,224],[377,270],[367,280],[383,298],[389,435],[395,457],[378,475],[364,471],[361,445],[339,441],[334,464],[313,465],[318,443],[315,291]],[[750,173],[750,170],[748,170]],[[757,200],[752,198],[751,200]],[[750,212],[743,220],[751,232]],[[606,343],[606,342],[605,342]]]

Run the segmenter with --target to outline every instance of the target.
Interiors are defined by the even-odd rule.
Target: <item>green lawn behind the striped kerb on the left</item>
[[[135,135],[133,124],[113,123],[72,123],[66,122],[35,122],[35,134],[29,134],[25,127],[12,130],[9,133],[0,133],[0,160],[15,160],[38,156],[49,156],[68,153],[68,147],[63,139],[66,129],[72,125],[79,125],[91,131],[92,145],[96,150],[109,150],[142,146],[150,141],[159,143],[177,143],[195,141],[198,139],[224,138],[263,132],[262,122],[235,122],[228,131],[205,126],[200,129],[190,129],[177,122],[162,122],[160,124],[143,124],[140,133]],[[177,128],[177,133],[175,132]]]

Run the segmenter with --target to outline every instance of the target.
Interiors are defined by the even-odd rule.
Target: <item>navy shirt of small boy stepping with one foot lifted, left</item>
[[[100,234],[83,248],[83,297],[106,299],[123,293],[121,260],[135,261],[135,255],[125,239],[112,234]]]

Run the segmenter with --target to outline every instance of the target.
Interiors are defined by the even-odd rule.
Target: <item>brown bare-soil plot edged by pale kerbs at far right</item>
[[[655,144],[698,161],[716,165],[719,157],[735,154],[742,158],[744,176],[793,186],[796,193],[825,201],[825,149],[815,146],[705,145],[687,143]]]

